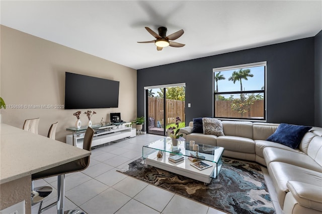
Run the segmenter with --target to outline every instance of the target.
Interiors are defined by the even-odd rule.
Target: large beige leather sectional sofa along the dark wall
[[[279,204],[286,213],[322,213],[322,128],[306,132],[297,149],[266,139],[279,124],[221,121],[224,136],[193,133],[193,122],[180,129],[183,137],[225,148],[223,156],[255,161],[268,168]]]

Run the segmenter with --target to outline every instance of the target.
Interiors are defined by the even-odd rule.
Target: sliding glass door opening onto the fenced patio
[[[168,135],[167,129],[174,126],[180,117],[185,126],[186,88],[184,84],[145,89],[147,133]]]

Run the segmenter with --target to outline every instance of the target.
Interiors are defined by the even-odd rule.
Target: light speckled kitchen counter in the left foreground
[[[64,142],[4,123],[0,124],[1,186],[13,186],[11,183],[14,184],[21,179],[30,180],[31,183],[31,175],[34,173],[90,155],[90,151],[67,145]],[[26,203],[29,203],[30,188],[26,189],[25,191],[29,191],[27,194],[29,198],[26,198]],[[1,194],[1,202],[8,202],[9,206],[12,201],[6,201],[6,198],[9,198],[10,195],[3,193]],[[15,196],[11,195],[10,198],[15,198]],[[6,207],[2,206],[1,209],[3,208]],[[28,206],[26,208],[26,210],[29,209]]]

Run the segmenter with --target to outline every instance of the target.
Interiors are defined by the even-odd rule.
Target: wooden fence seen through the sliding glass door
[[[154,118],[154,122],[160,121],[163,127],[164,109],[163,98],[148,97],[148,117]],[[175,123],[178,116],[182,122],[185,121],[185,101],[166,99],[166,123]]]

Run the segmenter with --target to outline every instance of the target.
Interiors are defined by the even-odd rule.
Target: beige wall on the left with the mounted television
[[[25,105],[63,105],[66,71],[120,82],[119,108],[79,109],[82,125],[88,122],[86,110],[97,112],[93,124],[102,117],[110,121],[111,112],[121,112],[124,121],[136,117],[135,69],[1,26],[1,97],[7,105],[23,106],[2,109],[2,122],[22,128],[25,119],[40,117],[39,134],[47,136],[50,125],[58,121],[56,139],[65,142],[65,135],[71,134],[65,129],[75,125],[77,109]]]

